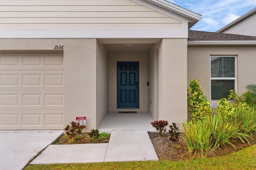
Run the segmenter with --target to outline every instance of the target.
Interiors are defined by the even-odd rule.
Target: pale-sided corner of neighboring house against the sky
[[[256,7],[217,32],[256,36]]]

